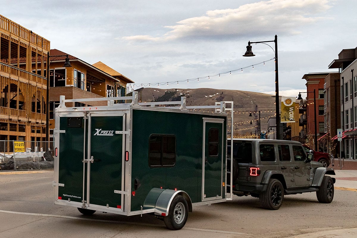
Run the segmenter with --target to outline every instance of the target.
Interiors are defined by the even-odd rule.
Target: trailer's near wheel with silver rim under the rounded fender
[[[187,217],[187,201],[181,195],[177,195],[170,204],[169,214],[164,217],[165,225],[170,230],[179,230],[185,226]]]

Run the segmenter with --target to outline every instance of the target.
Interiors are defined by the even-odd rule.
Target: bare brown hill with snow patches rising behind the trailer
[[[215,102],[233,101],[234,105],[234,129],[240,135],[254,135],[257,128],[252,128],[258,124],[258,113],[253,113],[249,117],[250,111],[261,111],[261,130],[267,130],[269,117],[275,117],[275,97],[273,95],[248,92],[239,90],[223,90],[214,88],[140,88],[138,90],[139,101],[141,102],[163,102],[180,101],[182,96],[186,96],[187,106],[214,105]],[[253,121],[250,125],[251,120]],[[237,131],[238,130],[238,131]]]

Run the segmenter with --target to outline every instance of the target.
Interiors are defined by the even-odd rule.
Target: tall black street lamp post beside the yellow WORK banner
[[[275,51],[274,49],[268,45],[265,44],[265,42],[275,42]],[[256,41],[256,42],[250,42],[248,41],[247,45],[247,51],[243,56],[255,56],[252,52],[252,46],[250,44],[252,43],[262,43],[267,46],[269,46],[275,53],[275,111],[276,111],[276,139],[280,140],[280,113],[279,113],[279,76],[278,76],[278,37],[275,35],[274,40],[270,41]],[[260,135],[259,135],[260,136]]]

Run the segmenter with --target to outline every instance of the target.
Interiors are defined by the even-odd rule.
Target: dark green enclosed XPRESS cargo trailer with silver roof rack
[[[108,106],[65,106],[104,100]],[[137,92],[116,98],[61,96],[54,130],[54,203],[83,214],[154,213],[169,229],[181,229],[193,206],[232,198],[226,187],[232,109],[233,102],[186,106],[185,97],[138,103]]]

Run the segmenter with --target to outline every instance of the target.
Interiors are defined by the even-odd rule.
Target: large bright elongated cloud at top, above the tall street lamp
[[[207,11],[205,15],[178,21],[162,36],[117,37],[127,41],[169,41],[181,38],[223,39],[244,35],[298,34],[298,28],[323,19],[314,14],[330,9],[328,0],[270,0],[236,9]]]

